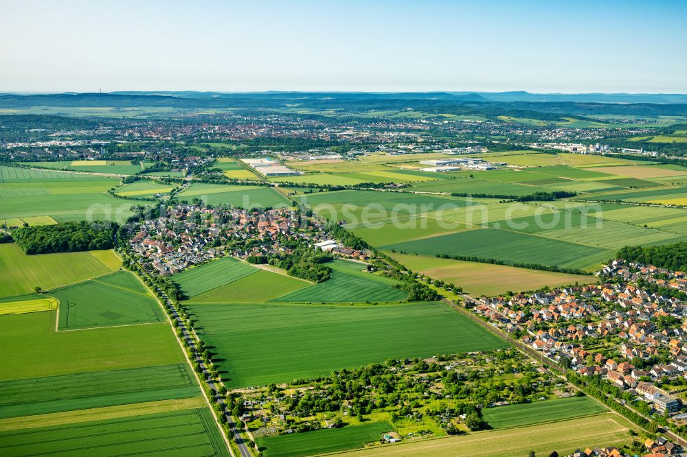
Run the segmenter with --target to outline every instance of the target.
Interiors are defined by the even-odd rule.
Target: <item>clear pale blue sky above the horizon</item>
[[[0,0],[0,91],[687,93],[687,1]]]

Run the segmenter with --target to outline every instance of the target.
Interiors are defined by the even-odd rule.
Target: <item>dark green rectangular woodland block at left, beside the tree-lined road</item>
[[[82,221],[22,227],[12,232],[12,237],[27,254],[67,253],[111,249],[116,232],[114,222]]]

